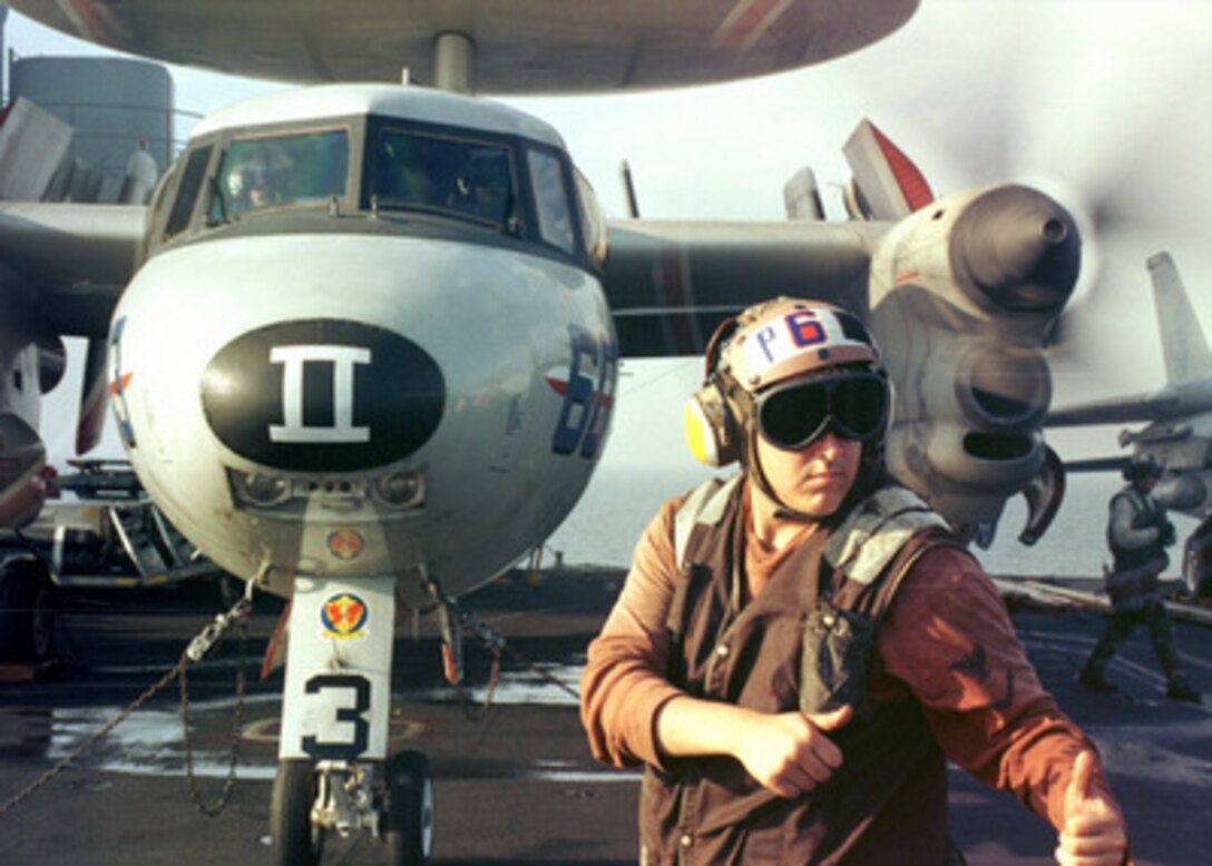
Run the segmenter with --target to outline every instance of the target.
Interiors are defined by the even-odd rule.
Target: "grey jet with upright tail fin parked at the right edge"
[[[1148,394],[1062,406],[1047,414],[1047,426],[1131,424],[1119,441],[1132,457],[1065,460],[1073,472],[1120,470],[1136,458],[1150,457],[1165,475],[1154,495],[1167,507],[1202,518],[1212,505],[1212,351],[1200,327],[1190,296],[1168,252],[1148,262],[1157,333],[1166,363],[1166,384]]]

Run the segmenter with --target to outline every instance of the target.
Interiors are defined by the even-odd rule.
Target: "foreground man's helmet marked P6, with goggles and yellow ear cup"
[[[705,379],[686,407],[686,437],[710,466],[753,463],[754,438],[795,451],[825,430],[875,452],[891,394],[880,350],[857,316],[831,304],[776,298],[720,325]]]

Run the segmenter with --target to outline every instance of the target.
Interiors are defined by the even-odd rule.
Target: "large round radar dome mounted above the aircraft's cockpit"
[[[282,81],[435,79],[434,34],[474,46],[484,93],[728,81],[819,63],[904,24],[919,0],[6,0],[97,45]]]

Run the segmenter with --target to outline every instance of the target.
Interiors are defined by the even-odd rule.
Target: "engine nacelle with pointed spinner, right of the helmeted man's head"
[[[996,185],[917,211],[873,254],[870,321],[898,386],[888,468],[965,528],[987,533],[1045,471],[1044,339],[1080,247],[1056,201]]]

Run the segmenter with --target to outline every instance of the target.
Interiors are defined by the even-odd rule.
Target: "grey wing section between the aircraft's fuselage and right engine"
[[[877,223],[613,220],[604,283],[624,356],[701,355],[715,327],[778,294],[867,306]]]

